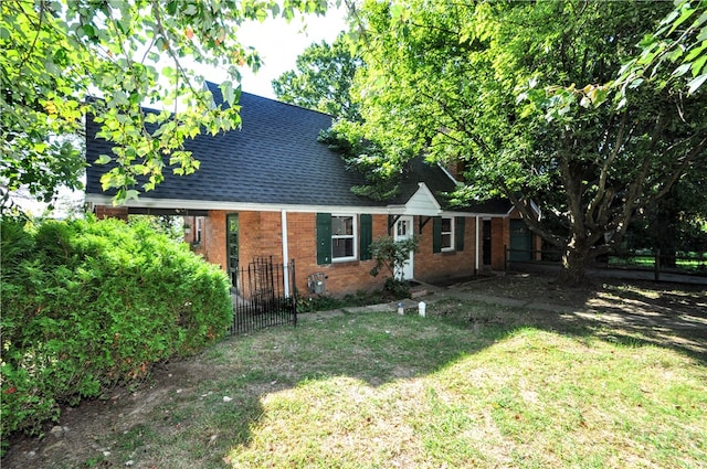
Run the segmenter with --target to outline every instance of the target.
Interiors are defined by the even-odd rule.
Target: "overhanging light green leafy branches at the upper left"
[[[0,22],[0,183],[51,200],[59,185],[80,188],[84,161],[66,136],[87,114],[115,143],[103,180],[115,202],[199,168],[183,141],[240,125],[239,67],[257,68],[255,51],[236,38],[244,21],[321,13],[326,0],[4,0]],[[184,65],[189,58],[196,64]],[[225,100],[212,107],[203,76],[223,67]],[[95,99],[89,98],[91,96]],[[144,105],[165,106],[146,114]],[[137,184],[140,184],[137,186]]]

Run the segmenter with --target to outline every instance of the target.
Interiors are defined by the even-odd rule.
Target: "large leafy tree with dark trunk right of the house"
[[[368,135],[467,164],[467,196],[504,195],[563,251],[579,284],[643,207],[707,147],[705,94],[658,77],[615,106],[558,106],[573,84],[603,84],[671,9],[661,2],[367,1],[358,12],[357,95]],[[548,96],[550,87],[570,90]],[[605,93],[588,87],[582,96]],[[538,204],[552,224],[534,217]]]

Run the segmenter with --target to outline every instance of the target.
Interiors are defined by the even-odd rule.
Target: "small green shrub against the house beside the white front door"
[[[418,236],[400,241],[392,236],[380,236],[371,243],[371,255],[376,260],[371,275],[377,277],[381,269],[386,269],[389,276],[386,278],[386,291],[395,296],[408,291],[405,279],[402,277],[403,267],[410,260],[410,253],[418,252],[419,244]]]

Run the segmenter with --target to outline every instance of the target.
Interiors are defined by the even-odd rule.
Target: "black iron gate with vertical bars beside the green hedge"
[[[295,259],[274,264],[272,257],[253,259],[233,276],[231,334],[281,324],[297,324]]]

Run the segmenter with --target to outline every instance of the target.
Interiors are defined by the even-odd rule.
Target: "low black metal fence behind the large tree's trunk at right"
[[[511,249],[506,246],[506,269],[523,265],[558,265],[562,253],[551,249]],[[704,253],[665,254],[657,251],[640,249],[615,252],[595,259],[592,268],[601,270],[631,270],[652,273],[653,279],[661,280],[662,275],[676,274],[707,277],[707,255]]]

